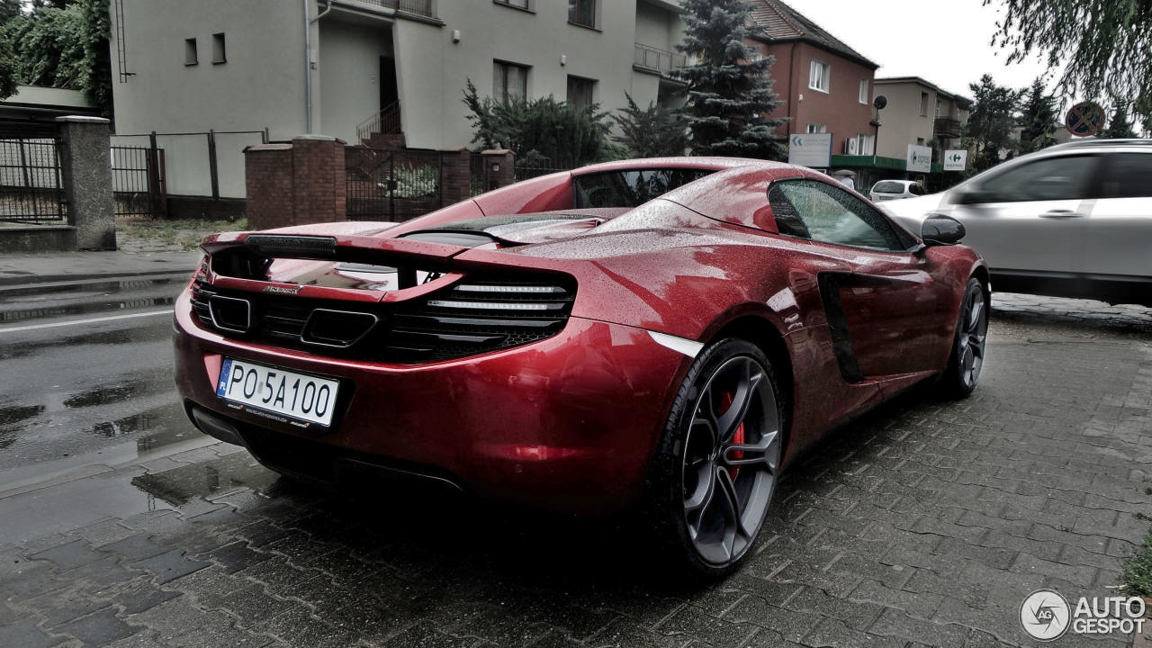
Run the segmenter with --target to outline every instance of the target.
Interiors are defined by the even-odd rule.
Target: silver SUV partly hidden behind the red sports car
[[[998,291],[1152,306],[1152,140],[1051,146],[884,209],[963,223]]]

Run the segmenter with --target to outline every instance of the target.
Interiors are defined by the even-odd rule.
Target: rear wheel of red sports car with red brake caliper
[[[772,366],[751,342],[718,341],[689,369],[643,505],[657,540],[690,575],[725,577],[755,544],[778,481],[786,412]]]

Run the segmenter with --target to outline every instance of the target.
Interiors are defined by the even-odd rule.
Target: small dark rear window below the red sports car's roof
[[[576,178],[577,208],[637,208],[715,173],[708,168],[608,171]]]

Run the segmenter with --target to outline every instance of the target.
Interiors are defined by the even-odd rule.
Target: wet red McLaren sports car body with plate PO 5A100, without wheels
[[[692,174],[637,206],[588,204],[597,174],[681,172]],[[738,338],[763,351],[787,404],[783,468],[940,375],[965,285],[986,282],[968,248],[899,227],[907,247],[893,250],[781,234],[768,193],[799,183],[848,195],[788,165],[672,158],[554,174],[395,226],[211,236],[175,306],[177,384],[203,431],[285,473],[333,482],[371,468],[599,513],[641,497],[694,361]],[[240,302],[227,300],[263,315],[228,330],[219,316]],[[311,309],[303,332],[268,330],[294,308]],[[339,347],[313,323],[334,310],[377,324]],[[229,359],[335,380],[331,424],[220,398]]]

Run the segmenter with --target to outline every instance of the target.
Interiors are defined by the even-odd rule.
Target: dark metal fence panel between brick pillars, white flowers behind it
[[[435,151],[347,148],[348,219],[401,221],[440,209],[442,168]]]

